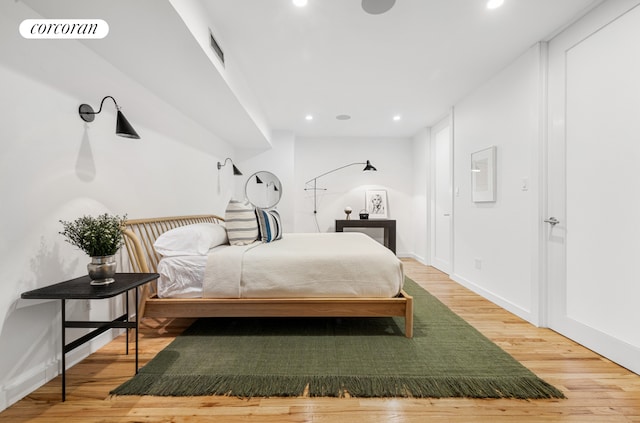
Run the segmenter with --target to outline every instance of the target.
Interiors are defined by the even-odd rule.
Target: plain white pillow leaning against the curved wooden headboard
[[[223,225],[194,223],[163,233],[153,247],[163,256],[204,256],[210,248],[228,243]]]

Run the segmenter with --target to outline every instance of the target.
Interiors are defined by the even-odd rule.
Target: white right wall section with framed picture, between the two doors
[[[534,46],[454,107],[451,276],[534,323],[540,100],[540,46]],[[473,203],[471,154],[491,145],[497,146],[497,201]]]

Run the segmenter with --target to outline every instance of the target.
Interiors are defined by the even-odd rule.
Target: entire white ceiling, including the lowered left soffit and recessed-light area
[[[364,12],[362,0],[305,8],[292,0],[22,1],[43,17],[106,20],[108,37],[86,47],[212,133],[257,151],[268,148],[270,130],[411,137],[602,0],[505,0],[496,10],[487,0],[396,0],[381,15]],[[223,72],[208,56],[207,26],[224,50]],[[242,95],[229,78],[242,81]],[[117,95],[135,126],[146,104]]]

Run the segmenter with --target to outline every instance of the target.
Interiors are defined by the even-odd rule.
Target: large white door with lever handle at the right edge
[[[640,7],[615,3],[549,44],[548,324],[640,372]]]

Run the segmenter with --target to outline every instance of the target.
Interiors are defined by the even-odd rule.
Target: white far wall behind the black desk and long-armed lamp
[[[388,138],[299,138],[295,143],[295,231],[316,232],[313,191],[305,191],[310,179],[354,162],[371,163],[377,172],[362,172],[364,165],[350,166],[318,179],[318,225],[332,232],[335,219],[344,219],[344,208],[352,218],[364,208],[367,189],[385,189],[389,218],[396,220],[396,253],[413,251],[413,146],[411,139]],[[377,234],[372,234],[377,236]]]

